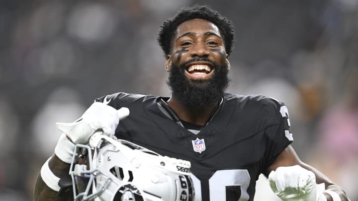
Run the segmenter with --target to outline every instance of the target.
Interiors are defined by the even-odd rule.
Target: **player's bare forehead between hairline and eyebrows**
[[[190,35],[213,33],[213,35],[221,37],[219,28],[214,23],[204,19],[191,19],[179,24],[176,38],[188,33],[191,33]]]

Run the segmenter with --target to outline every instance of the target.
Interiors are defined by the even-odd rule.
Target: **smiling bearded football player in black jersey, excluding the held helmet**
[[[70,129],[59,126],[64,134],[42,167],[35,200],[73,199],[59,196],[58,181],[69,173],[75,144],[100,130],[190,161],[194,201],[253,201],[260,174],[283,201],[348,201],[341,187],[296,155],[282,102],[225,93],[233,41],[231,21],[208,6],[185,7],[166,20],[158,42],[171,97],[103,96]],[[130,115],[119,121],[122,107]]]

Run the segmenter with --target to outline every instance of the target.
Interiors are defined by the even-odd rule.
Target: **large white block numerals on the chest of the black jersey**
[[[195,175],[190,175],[195,189],[194,201],[201,200],[201,182]],[[248,201],[247,189],[250,185],[250,175],[247,170],[218,170],[209,179],[210,201],[226,201],[235,196],[237,201]],[[230,194],[233,189],[238,189],[240,195]],[[232,198],[230,198],[230,201]]]

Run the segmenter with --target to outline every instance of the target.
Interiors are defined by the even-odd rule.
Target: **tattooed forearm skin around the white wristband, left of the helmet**
[[[61,161],[55,154],[49,161],[49,168],[56,177],[63,177],[69,174],[70,164]],[[61,197],[57,191],[49,188],[41,178],[41,174],[37,177],[34,201],[73,201],[72,191],[66,192]]]

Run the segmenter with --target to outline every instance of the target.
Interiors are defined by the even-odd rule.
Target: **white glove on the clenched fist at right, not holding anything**
[[[325,188],[324,184],[316,184],[312,171],[299,165],[271,171],[269,185],[282,201],[319,201]]]

